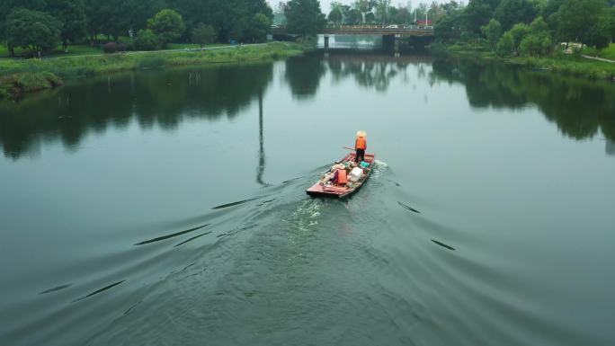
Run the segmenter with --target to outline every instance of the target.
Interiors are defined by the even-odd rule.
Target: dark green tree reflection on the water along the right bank
[[[431,78],[464,84],[474,107],[521,109],[535,104],[570,138],[592,138],[602,129],[605,137],[615,139],[613,84],[454,59],[434,61]]]

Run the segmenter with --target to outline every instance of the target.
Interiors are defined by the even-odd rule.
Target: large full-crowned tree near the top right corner
[[[563,40],[576,40],[590,30],[604,8],[603,0],[566,0],[557,13],[557,33]]]

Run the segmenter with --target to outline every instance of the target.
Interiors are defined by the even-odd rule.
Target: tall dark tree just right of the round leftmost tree
[[[62,49],[85,37],[87,19],[83,0],[48,0],[47,12],[62,22]]]

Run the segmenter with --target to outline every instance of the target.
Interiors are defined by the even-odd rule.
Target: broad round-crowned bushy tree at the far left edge
[[[39,53],[56,47],[62,23],[48,13],[18,8],[6,16],[4,31],[6,45],[14,55],[15,47],[32,49]]]

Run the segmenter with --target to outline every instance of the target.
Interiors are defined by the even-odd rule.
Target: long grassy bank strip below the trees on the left
[[[274,60],[303,54],[306,46],[289,42],[205,50],[166,50],[78,57],[0,60],[0,99],[20,99],[68,79],[121,71],[203,64]]]

